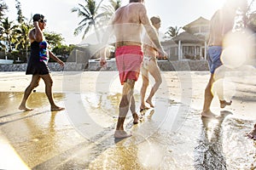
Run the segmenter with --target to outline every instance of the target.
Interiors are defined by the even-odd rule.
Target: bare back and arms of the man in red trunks
[[[131,2],[131,0],[130,0]],[[166,52],[162,48],[158,39],[157,32],[150,24],[148,19],[147,10],[143,4],[143,0],[138,1],[140,3],[128,3],[124,7],[119,8],[110,24],[111,31],[116,39],[116,48],[120,46],[137,45],[142,46],[141,33],[143,26],[148,34],[148,37],[154,42],[154,47],[158,50],[160,56],[167,56]],[[102,38],[103,44],[108,42],[110,34],[105,34]],[[103,53],[100,65],[106,65],[106,53]]]

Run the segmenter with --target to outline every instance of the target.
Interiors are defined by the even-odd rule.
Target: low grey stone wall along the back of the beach
[[[158,60],[161,71],[208,71],[207,60]],[[99,61],[91,59],[89,64],[75,62],[65,63],[61,68],[58,63],[49,63],[50,71],[117,71],[114,59],[109,59],[107,68],[102,68]],[[0,64],[0,71],[26,71],[26,64]]]

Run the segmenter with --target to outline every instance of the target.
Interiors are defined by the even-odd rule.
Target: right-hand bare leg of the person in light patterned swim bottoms
[[[154,59],[150,60],[148,71],[154,77],[154,86],[151,88],[150,94],[148,95],[148,99],[146,102],[150,105],[150,107],[154,107],[152,103],[152,98],[155,94],[155,92],[160,87],[160,84],[162,83],[162,77],[160,75],[160,68],[158,67],[156,61]]]

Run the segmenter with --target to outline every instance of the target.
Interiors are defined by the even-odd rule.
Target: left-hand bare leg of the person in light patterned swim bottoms
[[[147,109],[145,104],[145,94],[148,88],[148,71],[145,68],[142,68],[142,76],[143,76],[143,86],[141,88],[141,106],[140,110]]]

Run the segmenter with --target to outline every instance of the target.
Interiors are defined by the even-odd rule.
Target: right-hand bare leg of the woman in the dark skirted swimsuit
[[[42,77],[42,79],[44,80],[45,94],[46,94],[47,98],[49,99],[50,110],[51,111],[62,111],[62,110],[64,110],[64,108],[55,105],[53,95],[52,95],[53,81],[52,81],[51,76],[49,74],[47,74],[47,75],[40,75],[40,77]]]

